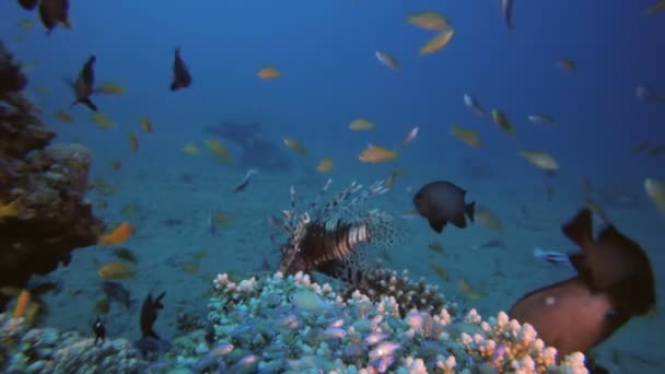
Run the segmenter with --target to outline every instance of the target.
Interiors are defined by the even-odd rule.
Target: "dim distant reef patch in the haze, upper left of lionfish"
[[[238,145],[242,154],[240,164],[244,167],[258,167],[261,171],[285,171],[291,166],[287,154],[273,142],[260,137],[261,125],[222,121],[209,126],[203,132]]]

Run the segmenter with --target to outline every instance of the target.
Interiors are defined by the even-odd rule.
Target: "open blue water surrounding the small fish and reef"
[[[452,279],[468,279],[490,291],[478,303],[480,311],[494,314],[536,285],[570,276],[569,270],[535,262],[530,254],[535,246],[551,250],[573,247],[559,226],[582,203],[583,175],[603,196],[630,198],[630,202],[607,198],[605,208],[617,226],[649,253],[662,285],[665,219],[646,198],[643,182],[665,178],[665,155],[630,152],[642,140],[665,142],[665,105],[640,102],[634,94],[642,82],[665,94],[665,54],[658,51],[665,14],[642,15],[652,3],[515,0],[515,28],[509,32],[499,0],[72,1],[73,28],[46,35],[36,12],[3,1],[0,37],[19,60],[35,65],[28,72],[31,87],[52,91],[32,92],[31,97],[44,108],[43,119],[58,132],[57,140],[75,139],[88,145],[94,156],[91,176],[120,186],[115,196],[106,198],[109,208],[97,215],[114,225],[124,220],[119,214],[122,206],[140,208],[142,221],[133,222],[139,230],[128,242],[142,254],[138,279],[127,282],[137,299],[159,287],[176,290],[168,295],[172,305],[191,300],[191,293],[177,290],[196,278],[191,282],[205,305],[208,283],[202,279],[207,273],[252,270],[264,256],[276,260],[277,248],[270,247],[265,234],[266,218],[288,209],[291,184],[315,196],[328,176],[339,189],[353,179],[384,178],[399,167],[404,175],[384,202],[389,212],[399,215],[412,209],[411,195],[406,191],[409,186],[447,179],[502,219],[506,226],[502,234],[471,226],[465,231],[448,227],[435,235],[424,221],[398,221],[410,235],[408,246],[415,248],[402,244],[393,254],[395,264],[441,283],[444,293],[459,296],[455,282],[442,282],[423,265],[434,256],[427,244],[441,241],[445,247],[441,262],[451,270]],[[406,15],[423,10],[445,14],[455,36],[444,49],[419,57],[418,48],[434,34],[407,24]],[[26,19],[35,22],[32,30],[18,26]],[[19,35],[26,39],[19,42]],[[171,92],[176,46],[182,48],[194,84]],[[395,56],[400,70],[383,67],[374,57],[376,49]],[[121,96],[94,96],[102,112],[118,122],[109,130],[97,129],[85,107],[69,108],[72,96],[63,78],[75,77],[91,54],[97,57],[97,82],[113,81],[127,89]],[[559,69],[557,61],[563,57],[573,59],[578,70]],[[257,71],[267,65],[280,69],[281,78],[257,78]],[[486,108],[508,113],[516,139],[474,116],[463,103],[465,93]],[[58,122],[52,116],[58,109],[68,110],[75,124]],[[526,116],[535,113],[550,114],[558,125],[529,122]],[[153,133],[140,132],[142,116],[152,119]],[[376,127],[350,131],[349,122],[359,117]],[[283,150],[293,163],[289,171],[261,171],[248,190],[230,194],[246,167],[220,163],[202,143],[210,138],[202,129],[221,120],[260,122],[262,137],[280,151],[282,137],[289,136],[305,144],[310,155],[301,157]],[[468,148],[451,137],[453,125],[477,130],[481,148]],[[415,126],[420,128],[419,137],[397,160],[378,165],[358,160],[368,143],[393,148]],[[139,135],[136,154],[127,141],[130,130]],[[187,142],[197,142],[201,154],[184,155],[179,149]],[[228,145],[240,157],[240,149]],[[545,176],[517,156],[524,149],[555,155],[561,165],[557,176]],[[326,176],[315,172],[323,157],[335,163]],[[113,160],[122,161],[119,172],[108,167]],[[177,182],[183,174],[195,176],[194,186]],[[553,188],[553,201],[547,201],[546,186]],[[528,218],[521,218],[521,206],[528,208]],[[211,209],[229,212],[235,220],[221,236],[207,234]],[[183,220],[182,227],[159,223],[174,217]],[[544,230],[525,229],[518,220]],[[498,236],[506,243],[505,249],[476,248]],[[201,265],[202,279],[165,265],[170,256],[201,248],[210,252]],[[66,284],[78,284],[72,288],[84,289],[86,280],[95,279],[93,258],[110,259],[103,249],[85,248],[56,276]],[[502,277],[492,274],[497,261],[503,264]],[[81,312],[54,299],[47,323],[85,330],[77,318],[92,318],[86,312],[92,307],[90,301],[74,302]],[[122,318],[121,311],[113,311],[114,315]],[[135,316],[128,318],[133,324]],[[161,319],[170,318],[173,320],[174,312],[165,311]],[[600,352],[625,352],[620,364],[625,371],[657,372],[644,361],[664,362],[662,350],[654,348],[661,337],[650,332],[663,328],[662,313],[634,318]],[[138,334],[135,327],[116,332]]]

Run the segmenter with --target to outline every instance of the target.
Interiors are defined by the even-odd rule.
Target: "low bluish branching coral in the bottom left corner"
[[[148,365],[125,339],[95,344],[78,332],[27,329],[23,318],[0,314],[3,373],[144,373]]]

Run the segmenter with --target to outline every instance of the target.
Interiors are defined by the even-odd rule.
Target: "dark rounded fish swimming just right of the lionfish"
[[[420,215],[428,219],[430,227],[438,233],[447,222],[459,229],[466,227],[466,217],[474,222],[476,202],[466,203],[466,191],[450,182],[432,182],[413,196],[413,204]]]

